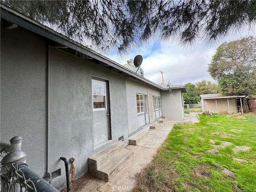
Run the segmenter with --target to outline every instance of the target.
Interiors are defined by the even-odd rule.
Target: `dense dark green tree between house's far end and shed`
[[[183,93],[183,100],[185,104],[197,104],[200,102],[199,96],[196,94],[196,86],[192,83],[185,84],[187,92]]]

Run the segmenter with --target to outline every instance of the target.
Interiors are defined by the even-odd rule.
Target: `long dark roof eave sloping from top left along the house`
[[[142,76],[139,76],[138,74],[132,72],[131,70],[128,70],[124,66],[64,36],[63,34],[60,34],[54,31],[53,29],[25,16],[24,14],[17,12],[16,10],[9,8],[3,4],[0,4],[0,8],[1,8],[1,11],[0,11],[1,18],[8,20],[9,22],[12,22],[14,24],[17,24],[18,26],[21,26],[22,28],[25,28],[31,32],[34,32],[40,36],[43,36],[44,38],[47,38],[53,42],[67,46],[68,48],[76,50],[77,52],[80,52],[82,54],[86,54],[87,56],[94,58],[98,62],[104,63],[103,65],[100,65],[99,63],[94,63],[96,65],[99,65],[101,67],[106,66],[105,68],[108,68],[109,70],[122,74],[126,77],[132,78],[138,82],[142,82],[143,84],[146,84],[150,87],[153,87],[158,90],[164,90],[164,88],[162,88],[158,84],[155,84],[154,82]]]

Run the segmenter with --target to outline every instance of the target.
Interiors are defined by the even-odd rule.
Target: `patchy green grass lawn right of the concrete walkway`
[[[175,125],[134,192],[256,192],[256,116]]]

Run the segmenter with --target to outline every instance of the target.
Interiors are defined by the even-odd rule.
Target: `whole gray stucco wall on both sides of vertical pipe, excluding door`
[[[92,77],[109,81],[112,141],[93,149]],[[47,43],[20,27],[1,27],[1,141],[22,136],[27,163],[46,174],[47,151]],[[88,171],[87,158],[124,136],[128,144],[128,113],[124,76],[60,50],[50,48],[50,172],[65,187],[60,156],[76,157],[75,178]]]

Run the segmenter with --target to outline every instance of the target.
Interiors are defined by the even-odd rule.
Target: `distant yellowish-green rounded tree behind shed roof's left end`
[[[202,80],[196,83],[196,94],[198,96],[202,94],[214,94],[219,93],[218,84],[210,81]]]

